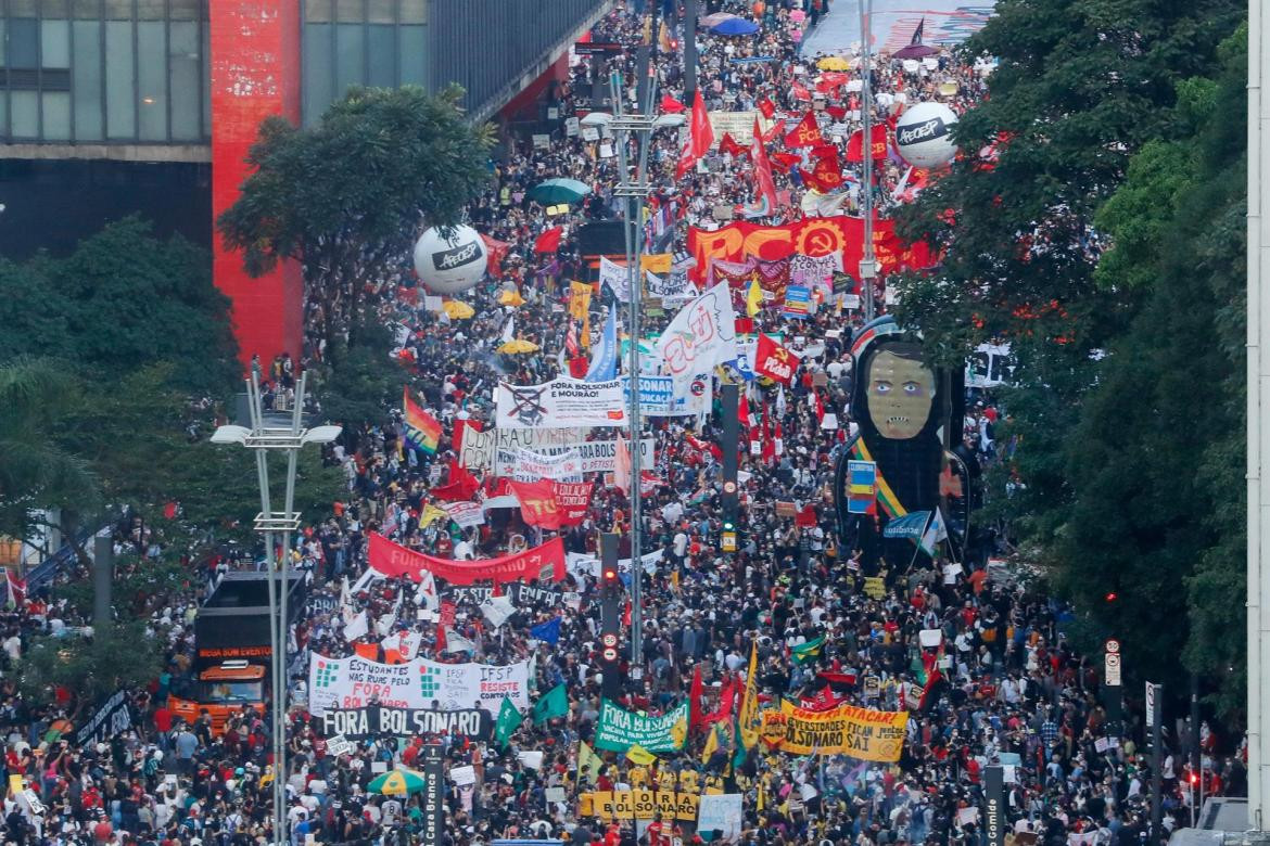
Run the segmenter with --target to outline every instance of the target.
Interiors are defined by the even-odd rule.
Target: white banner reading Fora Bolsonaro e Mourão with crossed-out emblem
[[[558,378],[541,384],[498,386],[498,429],[569,429],[625,426],[626,407],[618,379],[579,382]]]

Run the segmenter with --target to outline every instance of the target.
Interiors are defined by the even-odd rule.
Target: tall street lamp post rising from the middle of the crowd
[[[630,292],[629,332],[630,351],[627,358],[627,375],[630,378],[630,400],[627,416],[630,417],[630,452],[631,452],[631,679],[639,680],[644,675],[644,613],[641,608],[643,592],[643,567],[640,564],[640,521],[641,521],[641,495],[640,479],[643,477],[643,455],[640,454],[640,436],[643,420],[639,408],[639,336],[640,336],[640,261],[644,254],[644,241],[639,237],[634,227],[644,219],[644,202],[653,192],[648,181],[648,150],[654,129],[673,128],[683,124],[683,117],[678,114],[653,114],[653,103],[657,99],[657,77],[648,80],[648,91],[643,114],[624,114],[621,79],[617,74],[610,77],[612,90],[613,114],[592,112],[582,119],[585,126],[607,127],[613,132],[613,141],[617,146],[618,184],[613,195],[622,200],[622,230],[626,237],[626,283]],[[631,133],[635,134],[638,145],[638,164],[635,169],[635,181],[631,181],[630,153],[626,143]]]

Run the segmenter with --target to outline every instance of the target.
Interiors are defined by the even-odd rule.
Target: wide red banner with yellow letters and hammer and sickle
[[[739,222],[712,232],[688,227],[688,252],[697,260],[688,273],[700,284],[712,259],[744,261],[748,256],[775,261],[791,255],[817,259],[841,254],[843,268],[857,268],[864,241],[864,218],[846,216],[809,217],[784,226]],[[874,221],[874,254],[883,273],[921,270],[935,264],[925,244],[904,244],[889,219]]]

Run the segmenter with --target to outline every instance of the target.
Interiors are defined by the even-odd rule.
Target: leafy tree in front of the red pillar
[[[366,285],[399,268],[419,228],[460,222],[489,180],[491,134],[464,119],[461,96],[352,89],[312,128],[260,124],[255,172],[217,227],[251,275],[302,263],[328,342],[356,331]]]

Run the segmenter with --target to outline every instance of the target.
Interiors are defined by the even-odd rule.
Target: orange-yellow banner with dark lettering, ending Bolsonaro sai
[[[904,748],[907,710],[839,705],[806,710],[789,701],[763,712],[763,741],[791,755],[850,755],[861,761],[898,761]]]

